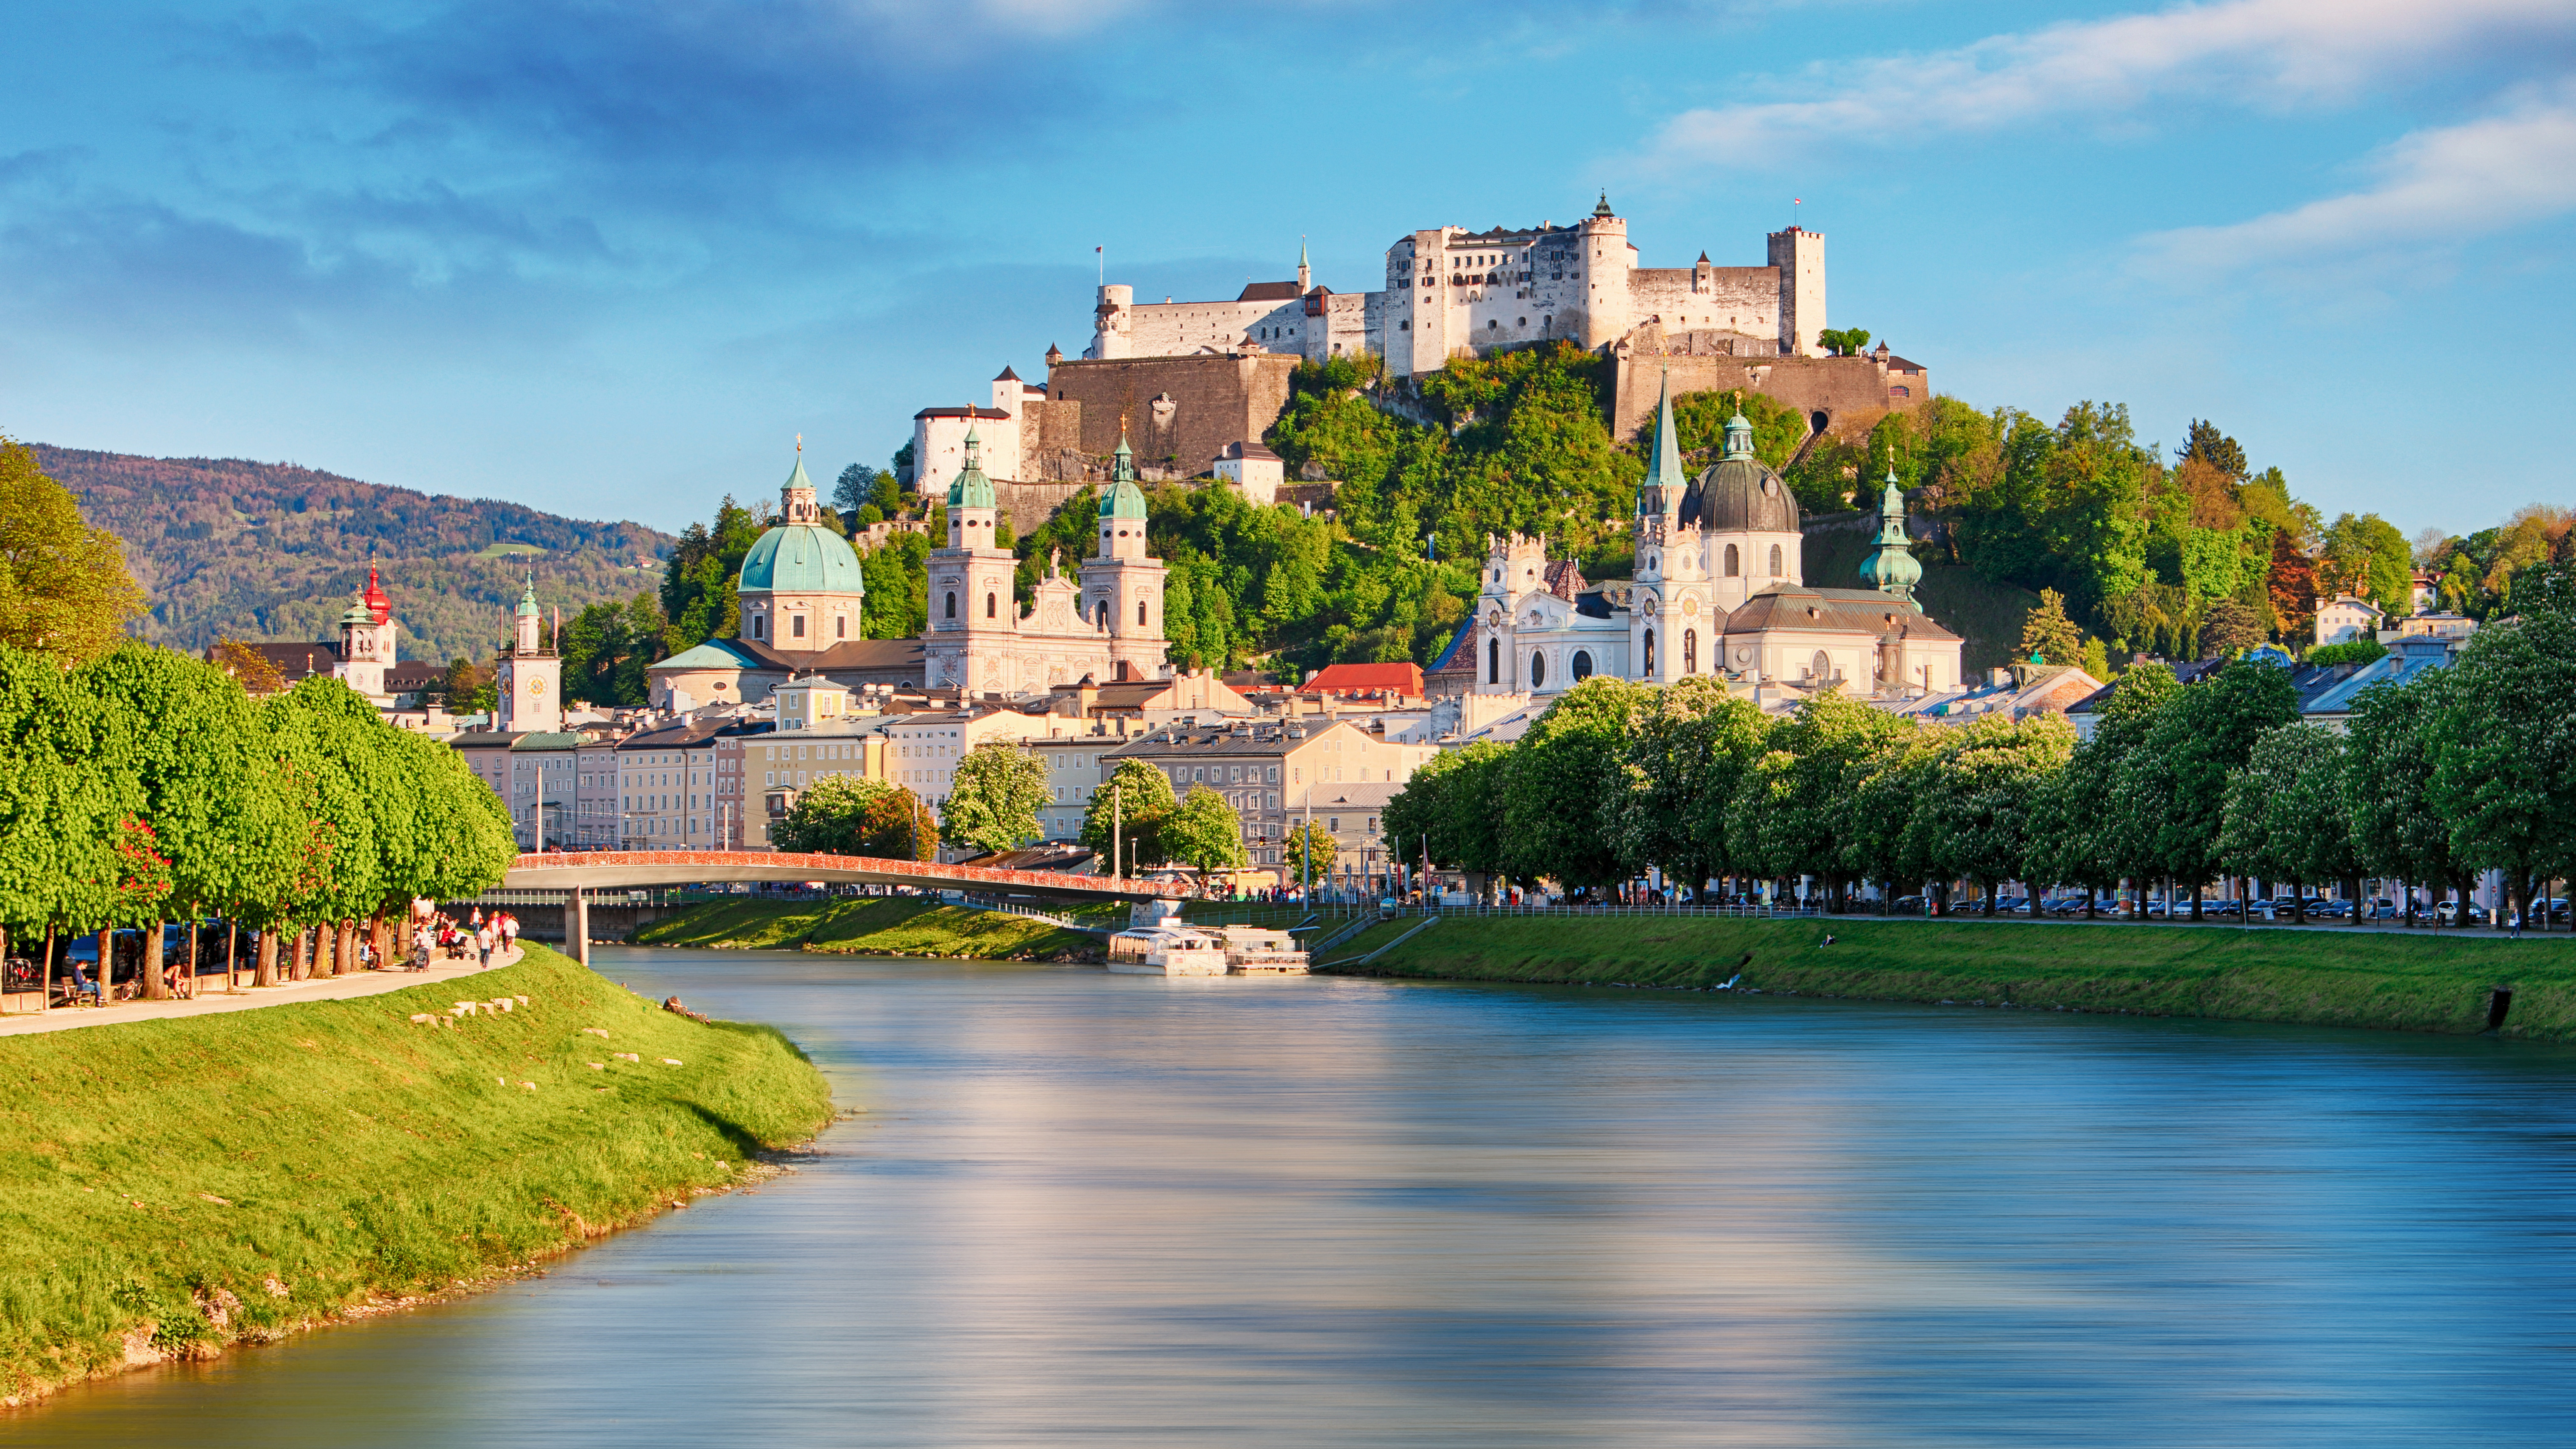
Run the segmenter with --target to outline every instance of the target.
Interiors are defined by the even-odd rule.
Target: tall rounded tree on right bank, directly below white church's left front
[[[1618,825],[1628,740],[1646,686],[1592,676],[1558,694],[1512,748],[1507,859],[1515,877],[1602,887],[1625,877]]]

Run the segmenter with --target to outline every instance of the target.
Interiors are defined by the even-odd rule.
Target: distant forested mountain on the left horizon
[[[482,657],[531,565],[538,601],[569,619],[585,603],[659,588],[675,544],[641,523],[587,523],[291,464],[28,449],[90,523],[126,541],[126,567],[152,606],[137,634],[175,650],[219,637],[335,639],[374,552],[402,657]]]

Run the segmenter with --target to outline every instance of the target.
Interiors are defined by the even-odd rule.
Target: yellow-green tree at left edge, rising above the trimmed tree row
[[[95,660],[144,611],[116,534],[80,521],[80,503],[0,436],[0,645],[67,663]]]

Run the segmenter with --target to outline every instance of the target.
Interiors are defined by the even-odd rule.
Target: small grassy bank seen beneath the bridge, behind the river
[[[636,946],[714,946],[724,951],[832,951],[842,957],[976,957],[984,962],[1097,959],[1100,936],[999,910],[935,900],[716,900],[665,915],[634,933]]]

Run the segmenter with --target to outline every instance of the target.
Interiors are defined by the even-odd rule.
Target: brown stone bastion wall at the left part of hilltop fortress
[[[1278,423],[1296,369],[1296,353],[1064,358],[1046,374],[1046,394],[1048,407],[1079,402],[1082,454],[1108,459],[1123,420],[1139,467],[1195,477],[1226,443],[1257,443]]]

